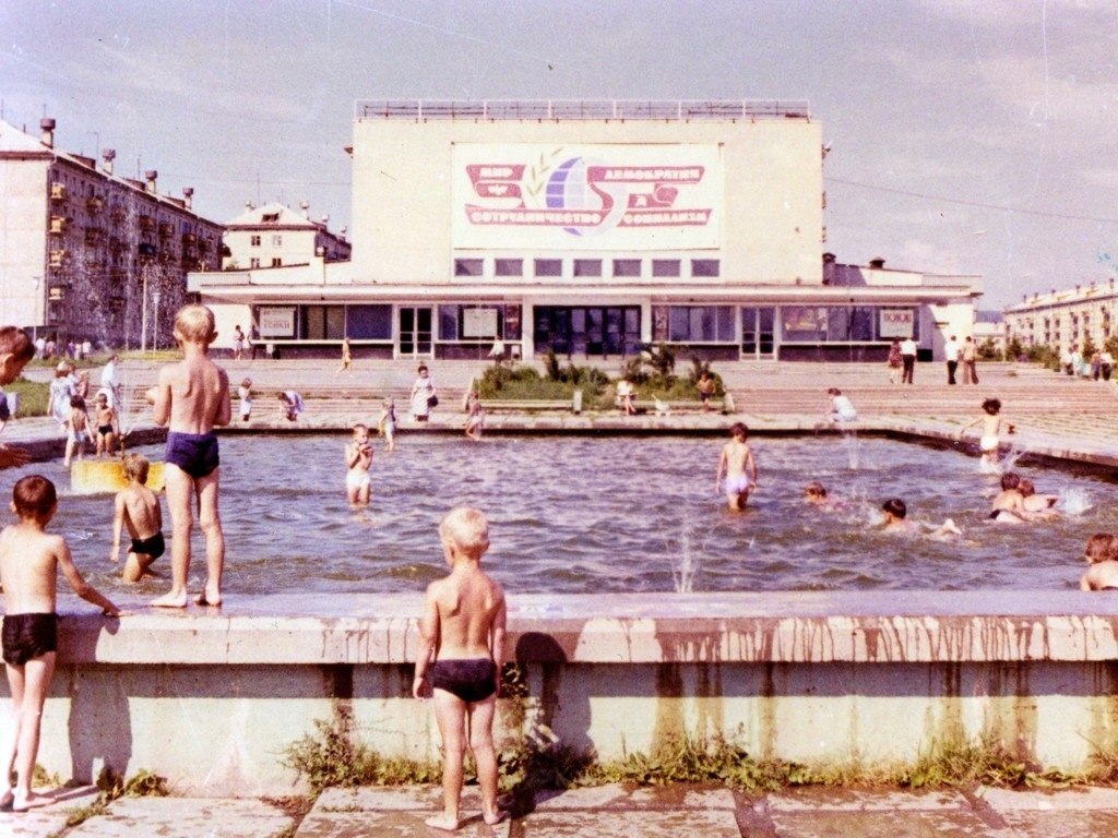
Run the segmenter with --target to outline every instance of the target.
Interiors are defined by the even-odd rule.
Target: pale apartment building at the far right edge
[[[1055,352],[1082,347],[1084,341],[1101,347],[1118,327],[1118,288],[1114,278],[1077,285],[1068,291],[1026,294],[1005,310],[1006,340],[1022,349],[1048,346]]]

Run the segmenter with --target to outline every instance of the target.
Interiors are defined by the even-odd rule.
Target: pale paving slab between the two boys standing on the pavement
[[[120,798],[66,838],[277,838],[291,816],[247,798]]]

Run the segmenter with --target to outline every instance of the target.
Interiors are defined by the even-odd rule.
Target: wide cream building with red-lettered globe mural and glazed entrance
[[[287,354],[718,360],[926,355],[976,277],[824,259],[802,102],[359,102],[352,258],[191,275]]]

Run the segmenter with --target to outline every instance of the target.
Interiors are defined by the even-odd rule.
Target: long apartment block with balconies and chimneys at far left
[[[60,342],[168,344],[187,273],[217,270],[221,226],[145,180],[55,149],[54,120],[34,137],[0,122],[0,322]]]

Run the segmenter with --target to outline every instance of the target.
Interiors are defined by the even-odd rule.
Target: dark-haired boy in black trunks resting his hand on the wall
[[[48,535],[47,523],[58,507],[55,485],[29,475],[12,491],[19,518],[0,532],[0,583],[3,584],[3,660],[12,698],[12,724],[0,744],[0,809],[18,812],[54,802],[31,791],[39,746],[42,705],[55,672],[57,621],[55,585],[61,570],[82,599],[110,617],[120,610],[82,578],[61,535]],[[11,787],[11,772],[18,774]]]

